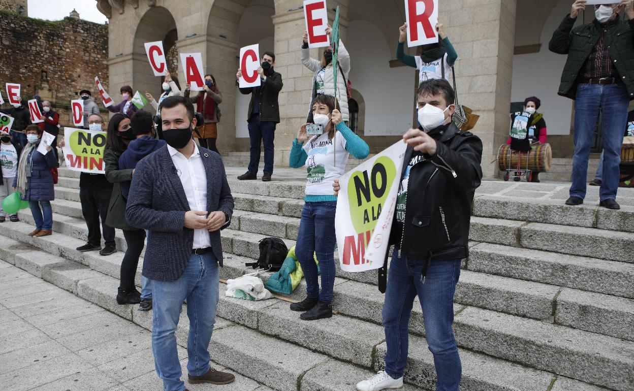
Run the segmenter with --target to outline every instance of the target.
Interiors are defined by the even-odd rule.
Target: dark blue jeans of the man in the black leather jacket
[[[453,295],[460,278],[460,260],[434,260],[422,282],[424,260],[398,257],[394,249],[383,304],[387,355],[385,372],[398,379],[405,372],[411,308],[418,295],[423,310],[425,338],[434,355],[437,391],[458,391],[462,364],[453,337]]]

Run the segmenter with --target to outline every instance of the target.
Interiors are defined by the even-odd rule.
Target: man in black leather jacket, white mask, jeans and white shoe
[[[451,324],[460,260],[469,255],[469,223],[480,186],[482,141],[460,132],[451,115],[455,94],[446,80],[418,88],[418,129],[404,136],[401,187],[392,223],[394,253],[383,305],[385,371],[361,381],[359,390],[403,384],[414,298],[420,298],[425,338],[434,355],[438,389],[458,390],[462,366]],[[333,185],[338,190],[338,184]]]

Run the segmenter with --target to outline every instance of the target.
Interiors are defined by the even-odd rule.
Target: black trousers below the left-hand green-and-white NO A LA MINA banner
[[[105,241],[105,245],[115,247],[115,229],[106,225],[111,193],[112,186],[79,187],[81,213],[84,215],[88,227],[88,243],[93,246],[101,246],[101,231],[99,229],[99,217],[101,217],[103,241]]]

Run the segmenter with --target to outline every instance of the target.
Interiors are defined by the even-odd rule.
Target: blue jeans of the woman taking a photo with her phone
[[[324,303],[332,300],[335,285],[335,210],[336,201],[306,202],[299,222],[295,257],[306,276],[307,297],[317,298]],[[317,254],[321,271],[321,293],[318,283],[317,264],[313,253]]]

